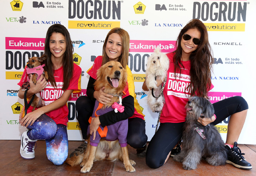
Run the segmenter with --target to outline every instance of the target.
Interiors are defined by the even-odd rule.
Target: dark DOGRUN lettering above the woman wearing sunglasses
[[[193,19],[212,22],[246,21],[247,2],[194,2]]]

